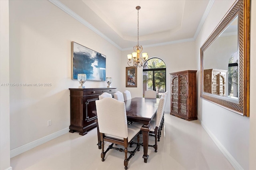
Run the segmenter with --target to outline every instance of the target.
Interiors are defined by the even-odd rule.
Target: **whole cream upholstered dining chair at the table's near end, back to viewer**
[[[140,150],[140,128],[127,125],[124,102],[120,102],[114,98],[104,98],[102,100],[96,100],[95,103],[102,146],[102,161],[105,160],[104,158],[108,150],[119,150],[124,152],[124,169],[127,170],[130,158],[134,155],[136,150]],[[137,136],[138,141],[136,148],[133,151],[128,151],[128,145],[135,136]],[[104,151],[105,141],[112,143],[106,151]],[[115,148],[113,147],[114,144],[122,145],[124,149]],[[127,153],[130,154],[129,157],[127,157]]]

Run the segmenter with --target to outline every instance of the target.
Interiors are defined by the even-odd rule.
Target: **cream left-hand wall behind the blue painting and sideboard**
[[[120,87],[121,51],[49,1],[10,1],[10,147],[15,149],[70,125],[71,42],[106,55],[106,76]],[[1,37],[2,38],[2,37]],[[86,81],[86,88],[106,82]],[[52,120],[48,126],[47,121]],[[67,129],[68,131],[68,129]]]

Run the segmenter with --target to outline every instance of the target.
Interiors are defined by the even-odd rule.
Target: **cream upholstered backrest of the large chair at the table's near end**
[[[96,100],[98,127],[100,133],[127,138],[128,127],[124,102],[114,98]]]

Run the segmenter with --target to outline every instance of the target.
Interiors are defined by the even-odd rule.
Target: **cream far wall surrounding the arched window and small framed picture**
[[[134,43],[136,45],[136,43]],[[143,46],[143,45],[142,45]],[[197,70],[197,60],[195,58],[195,42],[178,43],[172,45],[164,45],[159,47],[143,48],[143,52],[148,53],[149,59],[158,57],[166,64],[166,90],[170,94],[170,74],[171,72],[183,70]],[[125,67],[128,67],[127,54],[130,51],[122,51],[122,79],[121,90],[130,90],[132,97],[142,97],[142,68],[137,68],[138,86],[137,88],[125,87]],[[170,95],[169,95],[170,96]],[[170,97],[167,99],[166,111],[170,112]]]

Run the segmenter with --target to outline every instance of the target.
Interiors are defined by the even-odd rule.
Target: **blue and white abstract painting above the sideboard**
[[[106,56],[88,49],[78,43],[72,42],[73,72],[72,78],[77,74],[86,74],[86,80],[106,80]]]

